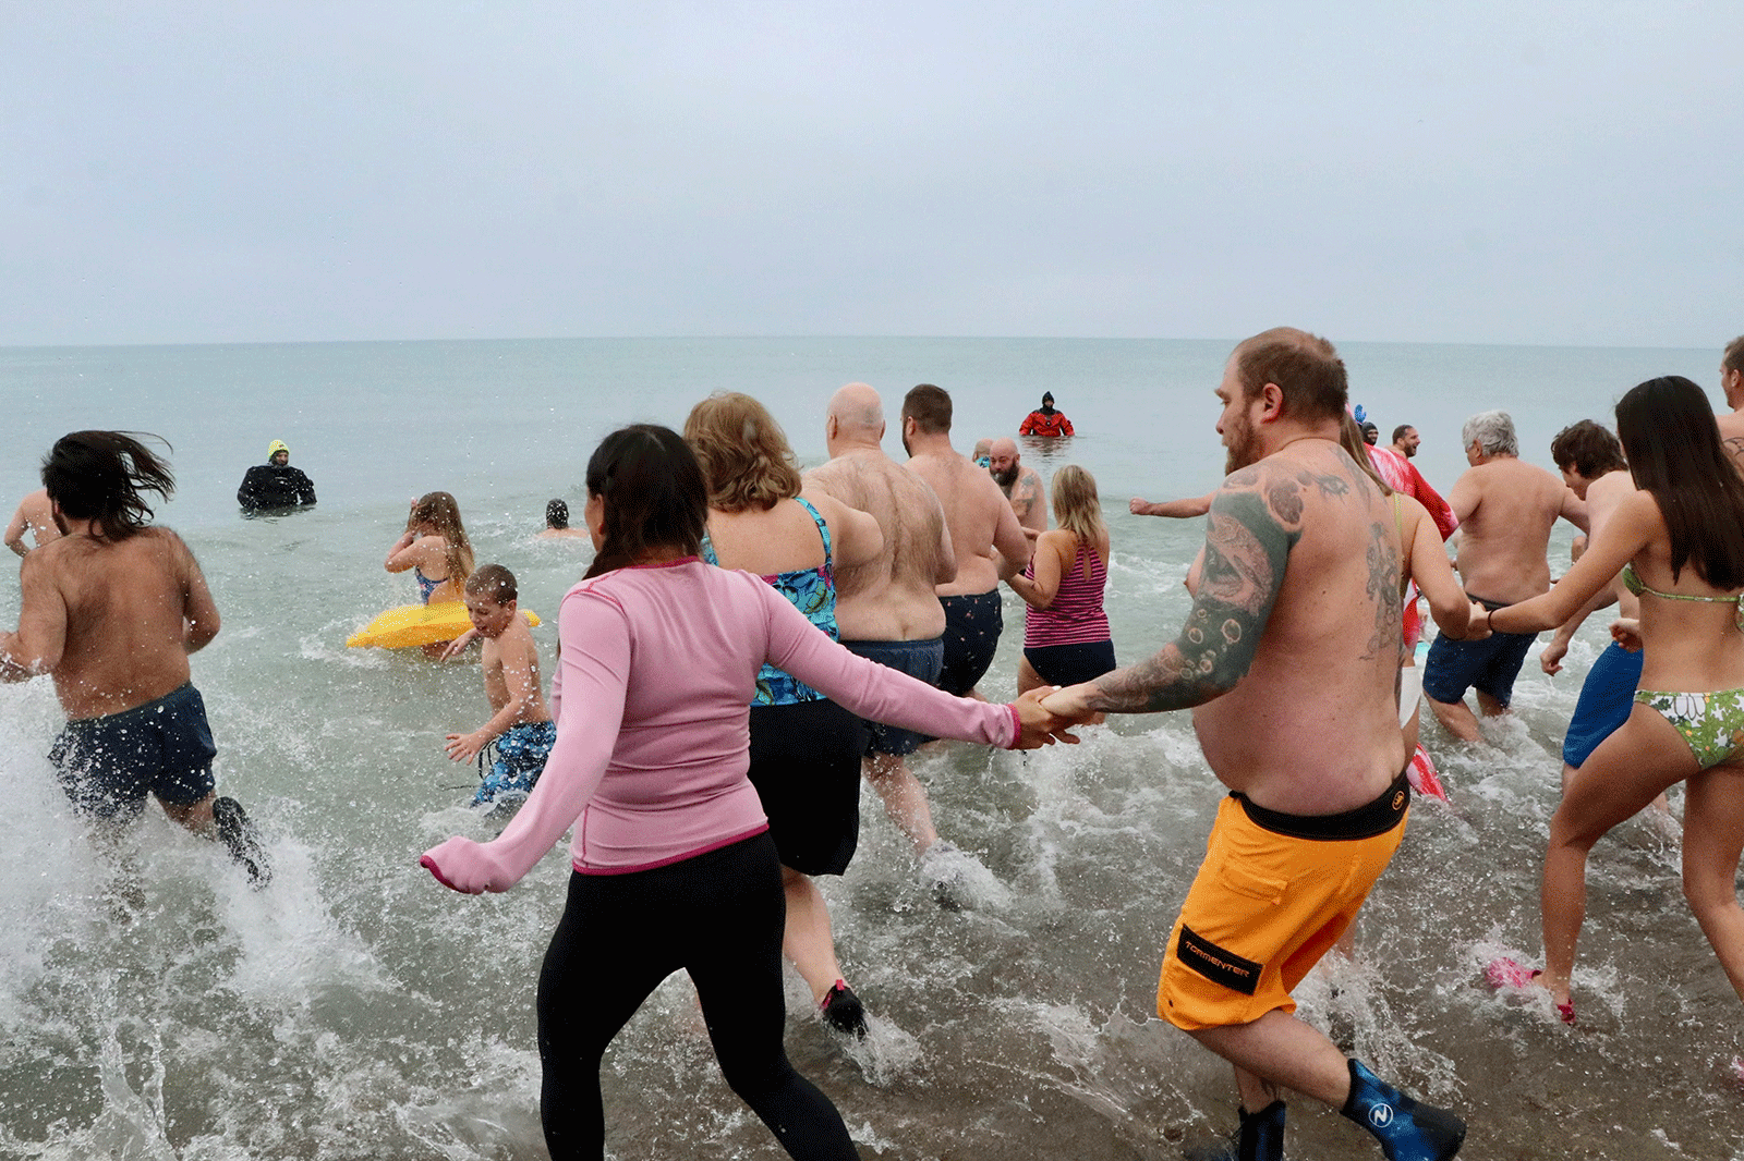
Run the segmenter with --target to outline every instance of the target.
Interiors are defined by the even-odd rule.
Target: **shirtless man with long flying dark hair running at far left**
[[[66,729],[49,760],[75,811],[113,838],[157,798],[173,821],[223,842],[249,880],[272,872],[235,798],[215,797],[218,753],[188,654],[218,635],[194,553],[150,525],[141,493],[169,497],[169,464],[126,432],[77,431],[42,462],[61,539],[19,568],[17,633],[0,678],[54,676]]]

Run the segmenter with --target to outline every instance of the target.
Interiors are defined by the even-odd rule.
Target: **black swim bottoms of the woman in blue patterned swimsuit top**
[[[752,706],[752,786],[783,866],[841,875],[860,845],[867,727],[834,701]]]

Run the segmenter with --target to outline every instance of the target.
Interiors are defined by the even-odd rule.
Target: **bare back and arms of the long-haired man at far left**
[[[122,540],[78,533],[30,553],[17,635],[0,647],[52,673],[68,718],[155,701],[188,682],[188,654],[218,635],[218,607],[194,553],[169,528]]]

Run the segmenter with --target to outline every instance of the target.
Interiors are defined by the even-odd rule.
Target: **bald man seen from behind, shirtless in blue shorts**
[[[830,462],[806,472],[806,488],[870,513],[884,532],[884,549],[874,560],[835,570],[842,645],[937,685],[945,655],[945,608],[935,586],[957,577],[945,509],[919,474],[884,455],[884,403],[872,387],[848,384],[837,390],[823,436]],[[928,739],[877,722],[867,727],[865,777],[914,844],[923,873],[930,873],[954,847],[938,840],[926,790],[907,762]]]

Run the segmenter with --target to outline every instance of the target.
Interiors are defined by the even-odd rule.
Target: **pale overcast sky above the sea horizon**
[[[0,343],[1716,347],[1744,5],[0,2]]]

